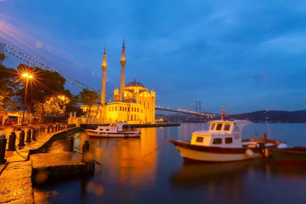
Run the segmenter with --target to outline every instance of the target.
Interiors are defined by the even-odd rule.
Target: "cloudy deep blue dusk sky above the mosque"
[[[106,45],[113,94],[124,37],[125,83],[157,106],[226,114],[306,109],[305,22],[305,1],[0,0],[0,41],[43,64],[101,90]]]

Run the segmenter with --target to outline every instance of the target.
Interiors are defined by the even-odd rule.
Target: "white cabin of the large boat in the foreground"
[[[215,120],[211,122],[208,131],[195,131],[192,133],[190,143],[201,146],[241,148],[242,129],[252,123],[249,120]]]

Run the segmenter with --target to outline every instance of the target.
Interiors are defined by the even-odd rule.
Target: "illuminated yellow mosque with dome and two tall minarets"
[[[140,82],[136,81],[125,84],[124,69],[125,61],[125,46],[123,39],[122,54],[121,54],[121,78],[120,90],[114,90],[114,101],[105,103],[106,92],[106,47],[103,54],[102,65],[102,91],[101,91],[101,104],[93,106],[92,112],[95,112],[95,117],[101,123],[112,122],[128,122],[129,124],[155,123],[155,91],[148,89]],[[85,106],[81,106],[83,110]]]

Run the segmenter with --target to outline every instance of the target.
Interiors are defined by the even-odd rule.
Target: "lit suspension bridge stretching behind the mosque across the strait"
[[[7,45],[4,42],[0,42],[0,54],[4,54],[4,52],[8,53],[9,55],[12,55],[24,62],[27,62],[30,65],[39,67],[41,69],[49,69],[51,71],[55,71],[57,73],[59,73],[63,78],[65,78],[66,82],[80,87],[80,88],[85,88],[85,89],[89,89],[89,90],[93,90],[96,91],[97,93],[99,93],[99,95],[101,95],[101,91],[98,89],[95,89],[91,86],[88,86],[78,80],[72,79],[71,77],[68,77],[68,75],[61,73],[45,64],[43,64],[42,62],[39,62],[38,60],[35,60],[33,58],[31,58],[28,55],[23,54],[22,52],[20,52],[18,49]],[[106,97],[114,100],[113,96],[111,94],[106,93]],[[195,106],[195,111],[191,111],[191,110],[187,110],[186,108],[189,107],[192,108],[192,106]],[[200,100],[196,100],[193,103],[186,105],[186,106],[182,106],[182,107],[178,107],[178,108],[164,108],[163,106],[156,106],[155,110],[158,111],[167,111],[167,112],[176,112],[176,113],[185,113],[185,114],[190,114],[190,115],[195,115],[197,118],[199,117],[200,119],[203,118],[212,118],[213,114],[210,114],[209,111],[206,109],[206,107],[202,104],[202,102]]]

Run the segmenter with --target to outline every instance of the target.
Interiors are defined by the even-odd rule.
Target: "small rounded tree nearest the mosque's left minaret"
[[[100,99],[99,94],[95,91],[91,91],[88,89],[83,89],[78,95],[79,103],[83,104],[86,107],[85,115],[87,117],[92,113],[91,107],[97,103]]]

